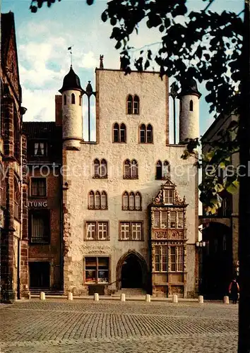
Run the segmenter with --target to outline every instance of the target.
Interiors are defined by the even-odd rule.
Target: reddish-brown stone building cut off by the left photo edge
[[[0,232],[1,301],[28,293],[27,183],[23,166],[22,90],[12,12],[1,14]]]

